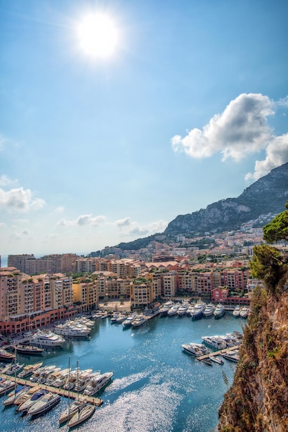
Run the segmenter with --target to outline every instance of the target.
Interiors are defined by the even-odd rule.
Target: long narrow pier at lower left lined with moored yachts
[[[83,395],[83,393],[77,393],[76,391],[72,390],[69,391],[65,389],[60,389],[58,387],[46,386],[45,384],[39,384],[38,382],[31,382],[28,380],[24,380],[23,378],[6,375],[6,373],[0,373],[0,376],[3,378],[3,380],[11,380],[13,382],[16,382],[16,384],[20,384],[22,386],[37,387],[38,389],[47,390],[51,393],[56,393],[59,396],[70,397],[71,399],[76,399],[79,396],[81,397],[81,400],[85,400],[85,402],[89,402],[90,404],[93,404],[95,406],[101,406],[103,404],[103,400],[99,397]],[[8,390],[8,393],[10,393],[10,391],[12,391],[12,389]]]

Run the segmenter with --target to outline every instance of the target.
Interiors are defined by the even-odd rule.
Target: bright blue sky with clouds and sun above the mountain
[[[0,0],[0,255],[163,232],[287,162],[287,12]],[[79,28],[99,16],[113,28],[88,46]],[[114,49],[91,52],[112,32]]]

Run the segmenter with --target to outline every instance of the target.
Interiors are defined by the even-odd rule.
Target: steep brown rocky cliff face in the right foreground
[[[218,431],[288,431],[288,274],[274,293],[255,288],[234,382]]]

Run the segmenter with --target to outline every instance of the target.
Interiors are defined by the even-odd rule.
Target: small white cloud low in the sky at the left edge
[[[30,189],[14,188],[8,191],[0,188],[0,206],[7,210],[28,212],[31,209],[37,210],[45,205],[41,198],[32,198]]]

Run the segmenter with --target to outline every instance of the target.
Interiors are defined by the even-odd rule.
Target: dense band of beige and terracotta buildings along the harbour
[[[93,311],[100,302],[125,301],[130,309],[144,309],[180,297],[249,305],[261,284],[251,277],[249,258],[262,235],[262,228],[245,224],[236,232],[179,235],[174,242],[159,235],[147,248],[107,247],[101,256],[8,255],[8,267],[0,268],[0,331],[20,334]]]

